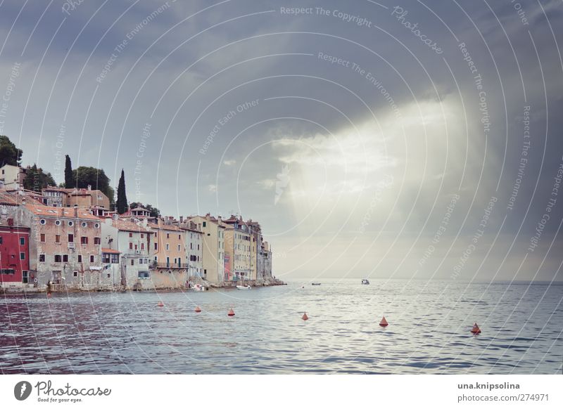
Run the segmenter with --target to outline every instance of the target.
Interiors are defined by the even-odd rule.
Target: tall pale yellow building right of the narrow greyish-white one
[[[209,213],[205,216],[191,216],[191,221],[197,231],[202,233],[202,277],[215,285],[222,285],[224,280],[229,280],[225,275],[225,244],[224,230],[220,218],[215,218]]]

